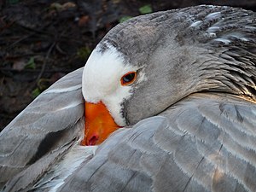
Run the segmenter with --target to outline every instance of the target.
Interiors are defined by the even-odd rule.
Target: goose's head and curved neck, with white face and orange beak
[[[248,11],[238,10],[197,6],[158,12],[108,32],[84,67],[83,143],[102,143],[119,127],[160,114],[192,93],[255,98],[250,47],[256,25]]]

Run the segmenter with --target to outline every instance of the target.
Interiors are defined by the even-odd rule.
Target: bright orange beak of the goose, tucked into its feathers
[[[100,144],[119,128],[102,102],[85,102],[84,140],[81,145]]]

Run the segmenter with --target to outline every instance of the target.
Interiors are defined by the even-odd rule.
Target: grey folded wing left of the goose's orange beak
[[[0,189],[44,154],[83,136],[82,72],[80,68],[57,81],[1,132]]]

